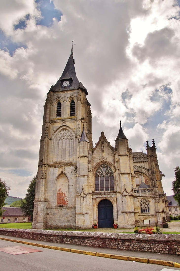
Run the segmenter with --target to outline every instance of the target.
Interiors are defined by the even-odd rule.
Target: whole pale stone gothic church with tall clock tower
[[[155,142],[133,152],[123,133],[93,147],[91,105],[73,51],[44,105],[32,228],[163,227],[169,220]],[[149,146],[150,145],[150,146]]]

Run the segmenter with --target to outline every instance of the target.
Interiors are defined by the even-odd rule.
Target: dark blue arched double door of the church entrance
[[[113,228],[113,205],[107,200],[103,199],[98,204],[98,228]]]

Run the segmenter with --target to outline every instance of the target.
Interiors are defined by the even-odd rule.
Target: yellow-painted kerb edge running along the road
[[[56,250],[62,250],[72,253],[79,253],[79,254],[85,254],[85,255],[91,255],[91,256],[97,256],[97,257],[104,257],[104,258],[110,258],[110,259],[118,259],[118,260],[124,260],[124,261],[134,261],[134,262],[140,262],[140,263],[152,263],[152,264],[160,264],[164,266],[171,266],[171,267],[178,267],[180,268],[180,263],[170,262],[170,261],[163,261],[163,260],[156,260],[156,259],[148,259],[148,258],[139,258],[139,257],[130,257],[130,256],[123,256],[123,255],[114,255],[114,254],[107,254],[107,253],[100,253],[100,252],[93,252],[93,251],[86,251],[86,250],[78,250],[78,249],[68,249],[66,247],[55,247],[55,246],[48,246],[43,244],[37,244],[37,243],[30,243],[25,242],[21,240],[15,240],[15,239],[9,239],[0,237],[1,240],[15,242],[15,243],[21,243],[36,247],[44,247],[46,249],[56,249]]]

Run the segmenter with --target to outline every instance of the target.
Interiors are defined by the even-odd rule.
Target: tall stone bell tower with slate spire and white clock
[[[51,86],[44,105],[34,229],[76,228],[77,193],[80,195],[81,190],[86,195],[89,193],[86,167],[92,149],[91,109],[87,89],[77,79],[74,63],[71,50],[66,67],[57,83]]]

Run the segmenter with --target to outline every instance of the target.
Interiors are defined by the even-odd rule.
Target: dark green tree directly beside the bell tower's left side
[[[21,200],[21,210],[27,216],[31,216],[33,220],[34,198],[35,198],[36,177],[32,179],[27,189],[28,193],[25,196],[25,202]]]

